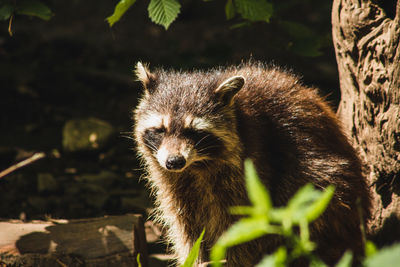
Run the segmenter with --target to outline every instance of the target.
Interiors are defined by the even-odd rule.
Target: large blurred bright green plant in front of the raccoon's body
[[[328,206],[334,193],[333,186],[322,192],[308,184],[293,196],[286,207],[275,208],[250,160],[245,162],[245,177],[252,206],[232,208],[233,214],[245,217],[233,224],[212,248],[214,265],[221,266],[219,262],[225,258],[229,247],[267,234],[284,236],[291,241],[292,247],[280,247],[274,254],[266,256],[259,266],[283,266],[300,256],[307,256],[314,261],[315,257],[310,255],[315,244],[310,240],[308,224]],[[296,227],[299,227],[299,235],[294,231]]]

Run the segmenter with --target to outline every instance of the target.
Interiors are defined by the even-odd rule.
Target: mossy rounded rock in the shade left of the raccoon
[[[69,120],[63,129],[63,148],[68,152],[101,150],[114,134],[114,127],[106,121],[96,118]]]

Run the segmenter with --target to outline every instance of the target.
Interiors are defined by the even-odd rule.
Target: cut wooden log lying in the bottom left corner
[[[147,266],[141,215],[0,221],[0,266]]]

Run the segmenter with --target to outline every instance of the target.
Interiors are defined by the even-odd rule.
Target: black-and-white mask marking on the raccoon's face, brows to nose
[[[224,149],[223,141],[212,133],[215,127],[206,119],[188,115],[182,118],[183,128],[174,129],[171,124],[176,118],[169,115],[150,113],[146,118],[138,126],[143,129],[142,141],[168,171],[181,172],[192,163],[212,159]]]

